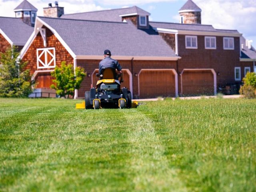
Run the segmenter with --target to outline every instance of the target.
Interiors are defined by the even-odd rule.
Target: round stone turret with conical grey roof
[[[188,0],[179,10],[181,24],[201,24],[201,9]]]

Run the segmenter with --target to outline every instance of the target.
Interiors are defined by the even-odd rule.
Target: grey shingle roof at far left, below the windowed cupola
[[[34,28],[20,18],[0,17],[0,28],[17,46],[24,46]]]

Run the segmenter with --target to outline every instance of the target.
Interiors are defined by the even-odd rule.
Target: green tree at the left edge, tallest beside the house
[[[27,62],[17,59],[19,54],[15,46],[0,53],[1,97],[26,97],[33,91],[30,70],[25,69]]]

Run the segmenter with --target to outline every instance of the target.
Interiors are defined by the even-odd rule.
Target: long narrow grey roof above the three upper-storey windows
[[[149,24],[153,28],[165,28],[165,29],[174,29],[174,30],[189,30],[189,31],[239,33],[237,30],[215,29],[212,25],[180,24],[180,23],[167,23],[167,22],[149,22]]]

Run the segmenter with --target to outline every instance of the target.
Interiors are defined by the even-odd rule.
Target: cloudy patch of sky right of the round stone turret
[[[194,2],[202,9],[202,24],[211,24],[218,29],[236,29],[246,38],[256,39],[256,0]]]

